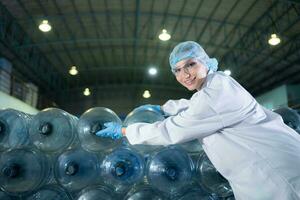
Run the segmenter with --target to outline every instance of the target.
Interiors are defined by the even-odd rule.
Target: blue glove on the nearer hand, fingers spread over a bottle
[[[116,122],[104,123],[105,129],[102,129],[96,133],[99,137],[110,137],[112,139],[120,139],[122,135],[122,125]]]

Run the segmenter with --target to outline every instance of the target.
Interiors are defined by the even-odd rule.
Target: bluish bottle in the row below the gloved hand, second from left
[[[69,191],[80,190],[95,184],[100,178],[99,158],[81,148],[61,154],[55,164],[54,176]]]

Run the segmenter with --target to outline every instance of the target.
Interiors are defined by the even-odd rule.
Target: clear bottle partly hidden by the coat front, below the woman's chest
[[[233,195],[229,182],[216,170],[204,152],[200,154],[197,162],[196,180],[204,189],[218,197]]]

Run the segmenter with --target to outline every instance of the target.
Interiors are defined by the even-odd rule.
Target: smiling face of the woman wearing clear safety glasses
[[[176,63],[176,69],[173,70],[177,81],[193,91],[201,88],[208,73],[208,69],[197,59],[185,59]]]

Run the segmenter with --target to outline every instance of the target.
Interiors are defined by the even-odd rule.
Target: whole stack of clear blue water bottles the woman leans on
[[[135,109],[123,125],[163,119]],[[198,141],[130,145],[96,136],[106,122],[122,123],[103,107],[79,119],[57,108],[0,110],[0,199],[234,199]]]

